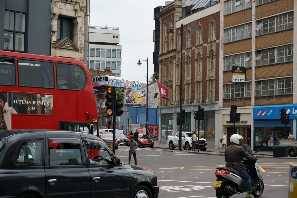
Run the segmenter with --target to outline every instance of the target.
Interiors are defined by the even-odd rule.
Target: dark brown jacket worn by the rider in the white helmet
[[[241,158],[245,157],[251,161],[256,158],[251,156],[247,151],[245,151],[242,146],[231,143],[225,150],[225,161],[226,167],[233,167],[236,170],[247,170],[247,168],[241,163]]]

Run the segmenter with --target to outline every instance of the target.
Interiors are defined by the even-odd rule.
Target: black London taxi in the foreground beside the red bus
[[[90,159],[104,163],[93,165]],[[154,172],[122,164],[100,138],[58,130],[1,131],[0,183],[0,197],[157,198],[159,193]]]

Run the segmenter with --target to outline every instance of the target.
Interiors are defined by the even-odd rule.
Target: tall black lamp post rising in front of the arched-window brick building
[[[169,32],[168,34],[169,35],[172,35],[174,33],[173,31],[173,28],[174,27],[171,27],[169,29]],[[180,85],[179,85],[179,150],[181,151],[181,131],[182,131],[182,125],[183,125],[183,121],[182,121],[182,108],[181,108],[181,103],[182,103],[182,62],[183,62],[183,23],[181,23],[181,27],[180,28],[175,28],[175,29],[180,29],[181,30],[181,62],[180,62],[180,66],[181,66],[181,70],[180,70],[180,78],[181,78],[181,82],[180,82]]]

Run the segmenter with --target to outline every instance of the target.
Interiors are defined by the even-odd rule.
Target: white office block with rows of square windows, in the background
[[[121,77],[121,51],[119,28],[91,26],[89,28],[88,68],[100,71],[110,68],[112,75]]]

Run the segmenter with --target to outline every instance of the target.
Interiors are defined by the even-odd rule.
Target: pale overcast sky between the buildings
[[[120,33],[122,78],[146,82],[154,73],[154,7],[165,0],[90,0],[90,26],[118,27]]]

